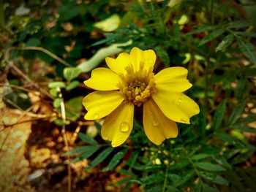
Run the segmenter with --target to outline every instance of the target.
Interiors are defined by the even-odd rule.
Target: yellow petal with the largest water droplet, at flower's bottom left
[[[112,141],[112,147],[123,144],[132,131],[134,104],[123,102],[110,113],[102,125],[102,138]]]

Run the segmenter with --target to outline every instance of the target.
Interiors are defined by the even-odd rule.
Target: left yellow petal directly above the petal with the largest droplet
[[[88,111],[84,118],[96,120],[104,118],[124,101],[124,95],[119,91],[94,91],[83,98],[83,106]]]

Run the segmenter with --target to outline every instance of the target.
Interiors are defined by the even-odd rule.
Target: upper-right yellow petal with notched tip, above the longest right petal
[[[154,80],[157,88],[161,90],[182,92],[192,87],[192,84],[187,80],[187,69],[181,66],[163,69],[154,76]]]

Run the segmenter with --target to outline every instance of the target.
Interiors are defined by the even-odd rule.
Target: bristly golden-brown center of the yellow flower
[[[121,77],[123,83],[120,85],[120,91],[124,93],[126,101],[140,107],[155,91],[154,73],[152,69],[145,70],[142,66],[138,72],[135,72],[132,66],[127,66],[126,71]]]

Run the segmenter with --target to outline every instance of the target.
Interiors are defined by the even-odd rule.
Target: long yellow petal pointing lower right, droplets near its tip
[[[189,118],[199,113],[195,101],[183,93],[157,89],[152,98],[165,116],[176,122],[189,124]]]

